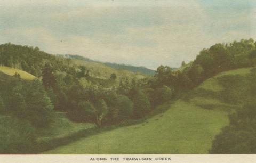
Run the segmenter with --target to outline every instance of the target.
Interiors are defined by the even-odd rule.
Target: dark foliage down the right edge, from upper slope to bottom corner
[[[211,153],[256,153],[256,74],[255,69],[246,76],[229,75],[218,78],[223,86],[221,100],[230,104],[243,104],[242,109],[229,116],[230,125],[215,137]]]

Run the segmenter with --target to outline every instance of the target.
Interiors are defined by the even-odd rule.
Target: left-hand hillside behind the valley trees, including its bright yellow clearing
[[[68,59],[71,59],[69,61]],[[126,69],[115,69],[106,64],[84,58],[79,55],[52,55],[39,50],[38,47],[15,45],[11,43],[0,45],[0,71],[13,76],[15,72],[22,79],[33,80],[42,76],[45,63],[50,63],[57,75],[71,74],[76,78],[79,66],[86,67],[90,71],[90,77],[76,78],[83,86],[103,86],[111,88],[118,86],[120,80],[141,79],[147,75],[141,72],[132,72]],[[73,73],[74,72],[74,73]],[[116,80],[111,80],[110,75],[116,74]]]

